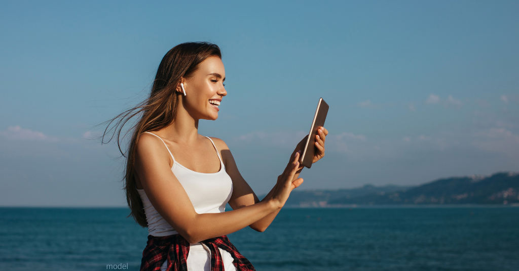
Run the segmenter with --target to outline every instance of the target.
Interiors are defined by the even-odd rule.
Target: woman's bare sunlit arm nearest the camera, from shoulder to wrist
[[[171,171],[171,162],[160,139],[148,134],[140,136],[135,171],[142,187],[158,213],[190,244],[241,230],[278,210],[284,204],[283,199],[288,197],[285,192],[285,196],[278,196],[276,201],[264,201],[223,213],[198,214]],[[290,174],[293,176],[295,171],[293,168]],[[287,180],[292,178],[290,174]]]

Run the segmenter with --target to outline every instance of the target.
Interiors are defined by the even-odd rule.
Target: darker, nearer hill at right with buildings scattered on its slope
[[[519,174],[497,173],[488,177],[439,179],[421,186],[390,193],[332,199],[333,205],[391,204],[511,204],[519,203]]]

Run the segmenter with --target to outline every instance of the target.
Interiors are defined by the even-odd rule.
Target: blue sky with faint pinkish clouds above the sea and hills
[[[162,56],[221,47],[220,117],[257,194],[330,104],[299,189],[519,171],[519,4],[3,2],[0,205],[122,206],[122,160],[88,140],[143,99]]]

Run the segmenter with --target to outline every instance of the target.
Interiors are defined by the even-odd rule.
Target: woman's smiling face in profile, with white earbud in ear
[[[188,78],[183,79],[184,96],[182,89],[182,104],[195,119],[216,120],[218,106],[222,97],[227,95],[224,88],[225,68],[222,60],[217,56],[210,56],[198,64],[198,69]]]

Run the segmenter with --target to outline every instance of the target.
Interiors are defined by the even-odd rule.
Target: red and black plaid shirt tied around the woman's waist
[[[211,250],[211,271],[224,271],[221,248],[233,256],[233,264],[239,271],[255,271],[254,266],[230,243],[227,235],[203,240]],[[166,271],[187,271],[189,243],[180,234],[155,237],[148,235],[146,248],[142,252],[141,271],[159,271],[164,261],[168,260]]]

